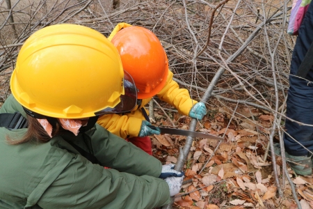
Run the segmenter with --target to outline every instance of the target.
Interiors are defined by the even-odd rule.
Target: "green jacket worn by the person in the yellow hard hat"
[[[19,111],[12,95],[0,113]],[[166,181],[157,178],[161,162],[103,127],[47,143],[9,145],[26,129],[0,127],[0,208],[156,208],[170,203]],[[92,164],[64,139],[93,153]],[[112,169],[104,169],[103,166]]]

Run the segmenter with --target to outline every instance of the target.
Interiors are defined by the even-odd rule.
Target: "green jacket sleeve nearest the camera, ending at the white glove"
[[[32,192],[37,194],[36,203],[41,208],[151,209],[170,203],[165,180],[103,169],[81,155],[67,155],[72,155],[72,159],[51,185],[44,192],[38,185]],[[53,172],[58,170],[51,170],[47,176]]]

